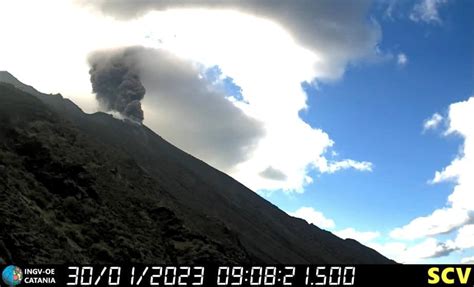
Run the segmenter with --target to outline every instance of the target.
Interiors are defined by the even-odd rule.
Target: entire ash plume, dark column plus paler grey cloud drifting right
[[[264,136],[263,124],[203,77],[202,67],[169,52],[129,47],[96,51],[89,61],[104,108],[142,120],[143,103],[147,126],[221,170],[248,159]]]

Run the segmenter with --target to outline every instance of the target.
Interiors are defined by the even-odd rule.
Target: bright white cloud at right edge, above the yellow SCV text
[[[407,225],[394,229],[390,235],[397,239],[416,239],[436,236],[454,231],[473,220],[474,212],[474,97],[466,101],[454,103],[449,107],[449,127],[447,134],[457,134],[464,138],[464,144],[456,159],[442,171],[437,171],[432,180],[439,183],[451,180],[455,183],[449,195],[447,205],[433,211],[430,215],[418,217]],[[461,228],[462,235],[470,232],[469,228]],[[470,233],[468,233],[470,234]]]

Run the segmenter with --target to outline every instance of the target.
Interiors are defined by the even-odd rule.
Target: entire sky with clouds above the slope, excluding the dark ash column
[[[0,0],[0,70],[123,118],[89,74],[120,63],[143,124],[288,214],[474,263],[474,3],[275,2]]]

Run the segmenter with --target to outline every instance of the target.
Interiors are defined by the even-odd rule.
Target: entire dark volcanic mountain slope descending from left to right
[[[85,114],[6,72],[0,81],[6,261],[393,262],[288,216],[145,126]]]

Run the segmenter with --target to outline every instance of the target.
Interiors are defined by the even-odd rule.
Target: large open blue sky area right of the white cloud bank
[[[371,16],[383,32],[380,50],[405,54],[405,65],[387,56],[377,63],[354,63],[335,82],[303,83],[310,108],[301,117],[331,136],[336,158],[368,160],[373,171],[314,172],[316,179],[305,193],[265,194],[281,208],[311,206],[339,229],[377,230],[387,236],[394,227],[445,205],[453,183],[428,181],[456,157],[463,140],[444,137],[439,130],[424,132],[423,122],[474,94],[474,5],[450,1],[440,7],[442,20],[435,23],[413,21],[406,16],[412,6],[400,6],[395,9],[405,16],[388,18],[380,3]],[[388,240],[383,236],[379,240]],[[464,255],[434,262],[460,262]]]

